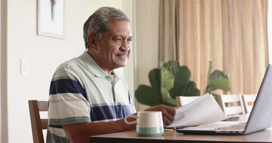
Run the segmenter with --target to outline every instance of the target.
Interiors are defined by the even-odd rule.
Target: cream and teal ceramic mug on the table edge
[[[136,121],[128,122],[127,118],[135,118]],[[137,116],[128,115],[125,117],[126,124],[136,124],[136,134],[138,136],[160,136],[163,134],[162,112],[141,111]]]

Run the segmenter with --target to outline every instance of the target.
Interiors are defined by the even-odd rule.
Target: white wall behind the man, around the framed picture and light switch
[[[85,50],[86,1],[65,1],[65,40],[36,35],[36,2],[8,0],[7,95],[1,96],[8,98],[10,143],[33,142],[27,100],[48,100],[57,66]],[[29,60],[28,75],[20,74],[21,58]]]

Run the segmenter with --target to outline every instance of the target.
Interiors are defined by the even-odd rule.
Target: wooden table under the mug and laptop
[[[240,115],[240,121],[247,121],[248,115]],[[246,135],[188,135],[175,131],[165,131],[158,137],[139,137],[135,131],[119,132],[90,137],[90,143],[94,142],[272,142],[272,128],[253,132]]]

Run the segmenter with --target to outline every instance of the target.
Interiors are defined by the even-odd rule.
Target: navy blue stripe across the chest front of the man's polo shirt
[[[127,105],[91,107],[90,113],[91,121],[119,119],[127,115],[131,115],[130,107]]]

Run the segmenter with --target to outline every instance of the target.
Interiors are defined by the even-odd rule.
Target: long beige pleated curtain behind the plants
[[[201,94],[209,61],[212,72],[229,77],[224,94],[257,93],[268,65],[267,6],[267,0],[161,0],[159,60],[186,65]]]

